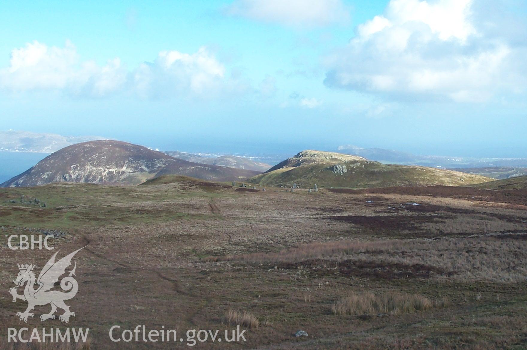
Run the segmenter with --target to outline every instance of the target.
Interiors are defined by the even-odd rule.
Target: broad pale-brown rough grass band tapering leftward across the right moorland
[[[206,261],[247,261],[264,267],[305,267],[316,275],[376,278],[455,278],[524,281],[527,240],[494,237],[330,241],[278,252],[209,257]]]

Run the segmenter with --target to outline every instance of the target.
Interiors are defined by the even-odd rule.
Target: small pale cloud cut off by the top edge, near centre
[[[324,26],[349,19],[341,0],[236,0],[228,13],[289,26]]]

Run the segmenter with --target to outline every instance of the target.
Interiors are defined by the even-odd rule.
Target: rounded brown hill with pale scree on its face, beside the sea
[[[258,173],[176,159],[128,142],[99,140],[77,143],[58,150],[0,186],[27,187],[52,182],[138,184],[161,174],[230,181]]]

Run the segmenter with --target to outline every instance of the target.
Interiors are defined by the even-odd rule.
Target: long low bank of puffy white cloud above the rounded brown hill
[[[0,89],[56,90],[80,96],[204,95],[225,88],[225,71],[205,47],[191,54],[162,51],[152,62],[129,71],[119,58],[102,66],[82,62],[70,42],[64,47],[50,47],[35,41],[12,51],[9,66],[0,69]]]

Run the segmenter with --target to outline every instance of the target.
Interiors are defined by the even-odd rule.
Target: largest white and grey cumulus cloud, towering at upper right
[[[327,86],[395,98],[481,102],[521,91],[525,43],[496,34],[472,0],[391,0],[329,57]]]

